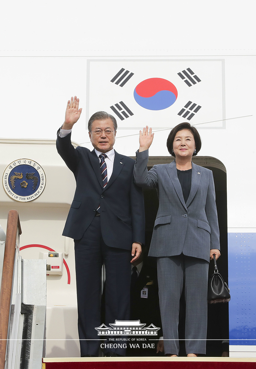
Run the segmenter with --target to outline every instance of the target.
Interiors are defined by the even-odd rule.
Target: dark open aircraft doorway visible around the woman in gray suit
[[[155,164],[170,163],[173,159],[170,156],[149,157],[148,170]],[[216,205],[218,212],[218,223],[220,231],[221,257],[218,259],[218,269],[228,283],[228,239],[227,239],[227,192],[226,192],[226,169],[222,162],[216,158],[208,156],[194,156],[193,162],[197,165],[211,169],[214,177]],[[158,211],[158,196],[155,189],[143,189],[145,202],[145,245],[148,251],[152,238],[153,227]],[[155,258],[152,258],[155,259]],[[152,261],[153,262],[153,261]],[[213,273],[213,263],[209,266],[209,275]],[[184,317],[184,296],[181,297],[180,307],[180,335],[183,336]],[[207,356],[221,356],[228,351],[228,304],[209,304],[208,305],[208,330],[207,330]],[[226,342],[222,342],[226,341]],[[182,351],[182,342],[180,350]],[[185,352],[180,351],[180,356],[186,356]]]

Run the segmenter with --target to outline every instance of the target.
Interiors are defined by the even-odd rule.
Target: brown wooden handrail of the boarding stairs
[[[0,369],[4,369],[5,365],[17,228],[18,234],[20,235],[21,227],[18,211],[10,210],[7,218],[6,243],[0,292]]]

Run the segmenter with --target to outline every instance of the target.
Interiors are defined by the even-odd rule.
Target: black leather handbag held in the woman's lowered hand
[[[222,276],[218,273],[215,255],[214,258],[214,273],[208,283],[208,304],[216,304],[218,302],[230,301],[229,288],[224,282]]]

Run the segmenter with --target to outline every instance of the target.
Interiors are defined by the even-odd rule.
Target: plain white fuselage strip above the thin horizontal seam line
[[[254,27],[252,0],[14,0],[1,5],[1,50],[8,55],[251,54]]]

